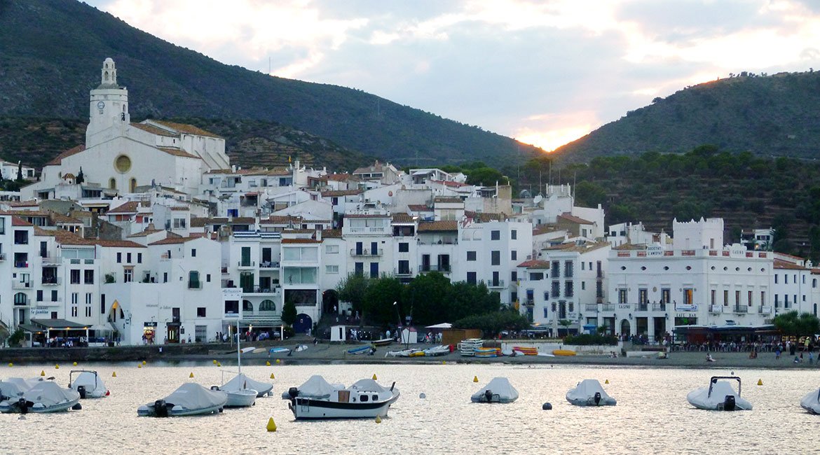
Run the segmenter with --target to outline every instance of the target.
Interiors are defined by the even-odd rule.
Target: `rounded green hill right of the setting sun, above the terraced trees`
[[[702,144],[754,155],[815,158],[820,150],[820,73],[741,73],[688,87],[554,152],[562,160],[645,151],[683,153]]]

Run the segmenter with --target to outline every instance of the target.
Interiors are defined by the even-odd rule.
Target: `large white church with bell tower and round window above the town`
[[[189,124],[131,123],[128,90],[116,83],[116,65],[107,58],[100,85],[89,97],[85,146],[48,162],[40,181],[22,188],[21,196],[77,199],[82,193],[123,194],[152,184],[196,194],[203,173],[215,169],[230,169],[225,139]],[[80,170],[81,183],[76,182]]]

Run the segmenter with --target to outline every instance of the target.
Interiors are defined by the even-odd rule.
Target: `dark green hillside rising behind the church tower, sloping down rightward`
[[[539,151],[360,90],[224,65],[74,0],[0,0],[0,115],[87,117],[108,56],[134,119],[275,122],[397,164],[503,163]]]

